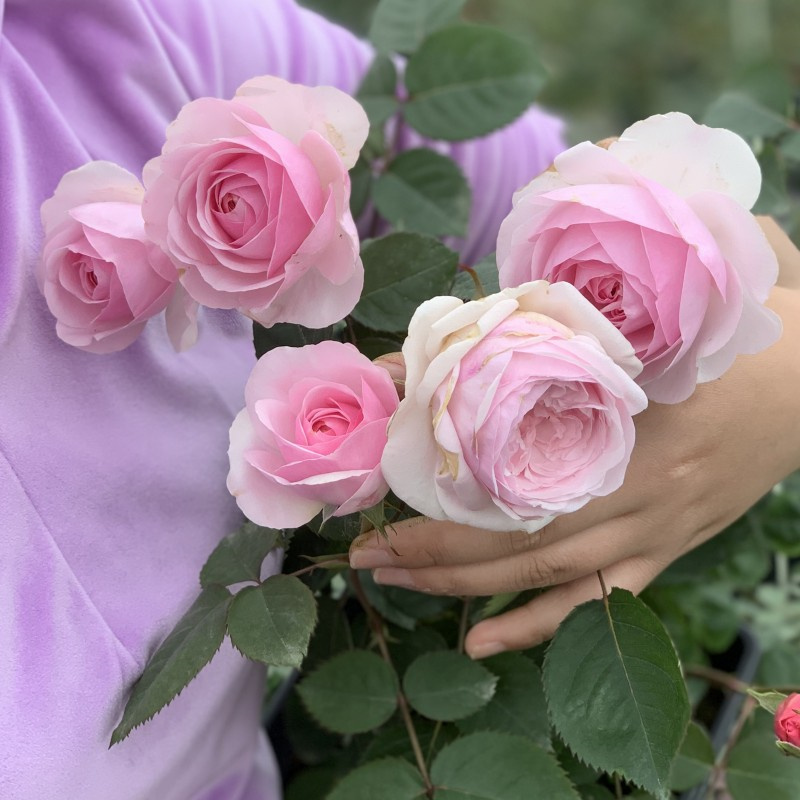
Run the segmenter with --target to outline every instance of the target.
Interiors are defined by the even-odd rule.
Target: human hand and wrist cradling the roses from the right
[[[760,222],[781,262],[769,301],[783,319],[781,340],[740,357],[685,402],[652,403],[638,415],[622,488],[533,535],[408,520],[388,542],[359,537],[351,565],[375,569],[378,583],[433,594],[553,587],[469,632],[467,652],[483,658],[552,636],[574,606],[600,597],[597,570],[609,586],[641,591],[800,467],[800,253],[774,222]]]

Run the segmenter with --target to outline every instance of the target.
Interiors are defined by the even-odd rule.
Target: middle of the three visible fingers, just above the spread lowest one
[[[489,595],[566,583],[594,574],[637,553],[638,526],[631,520],[591,528],[552,544],[515,555],[474,563],[420,567],[381,567],[376,583],[443,595]]]

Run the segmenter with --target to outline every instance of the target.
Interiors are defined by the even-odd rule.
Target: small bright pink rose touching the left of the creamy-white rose
[[[350,344],[277,347],[245,387],[231,426],[228,490],[253,522],[303,525],[375,505],[380,461],[398,404],[389,373]]]

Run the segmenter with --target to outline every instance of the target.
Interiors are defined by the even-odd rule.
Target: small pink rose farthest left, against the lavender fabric
[[[167,306],[178,276],[145,236],[143,195],[130,172],[93,161],[68,172],[42,204],[36,277],[67,344],[122,350]]]

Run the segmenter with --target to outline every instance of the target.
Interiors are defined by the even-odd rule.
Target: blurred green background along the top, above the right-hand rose
[[[301,0],[366,36],[377,0]],[[570,143],[684,111],[736,130],[762,163],[757,212],[800,242],[800,1],[469,0],[464,16],[531,41],[540,102]]]

